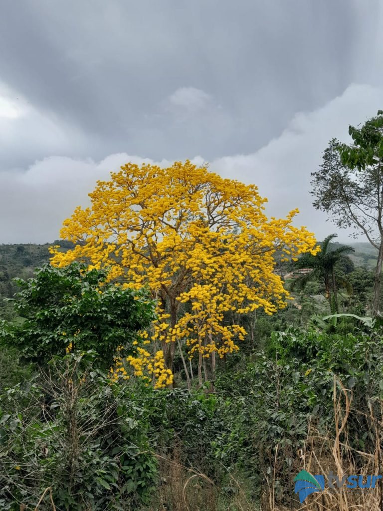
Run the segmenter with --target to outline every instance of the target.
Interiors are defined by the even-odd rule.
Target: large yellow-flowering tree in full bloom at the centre
[[[169,370],[183,342],[189,356],[198,355],[199,366],[206,358],[212,368],[216,355],[238,350],[246,332],[227,325],[225,313],[261,308],[273,314],[284,307],[289,293],[274,273],[275,254],[295,260],[319,250],[312,233],[293,226],[298,210],[269,219],[267,199],[255,185],[224,179],[188,160],[169,168],[129,163],[109,181],[98,181],[89,197],[91,206],[77,207],[61,229],[75,248],[54,248],[52,264],[84,260],[108,267],[109,279],[125,287],[147,285],[157,299],[158,319],[143,336],[153,352],[160,347]]]

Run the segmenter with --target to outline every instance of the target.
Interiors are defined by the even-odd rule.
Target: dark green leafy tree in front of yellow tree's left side
[[[74,263],[65,268],[45,265],[21,291],[15,308],[24,320],[0,324],[0,342],[13,346],[28,361],[46,364],[66,348],[94,350],[109,368],[116,348],[131,353],[137,331],[154,317],[154,302],[145,290],[106,284],[106,272]]]

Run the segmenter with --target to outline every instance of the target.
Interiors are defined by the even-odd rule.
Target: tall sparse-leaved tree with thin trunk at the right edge
[[[383,111],[361,128],[349,127],[351,144],[335,138],[324,151],[321,168],[312,174],[314,206],[341,228],[352,227],[378,250],[372,314],[380,316],[383,265]]]

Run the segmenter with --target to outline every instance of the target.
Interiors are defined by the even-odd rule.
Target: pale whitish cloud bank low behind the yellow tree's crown
[[[298,207],[296,225],[306,225],[318,239],[335,229],[310,204],[310,171],[318,168],[321,148],[328,136],[347,140],[347,122],[358,124],[366,111],[376,111],[383,88],[351,85],[343,95],[308,113],[297,114],[282,134],[254,153],[224,156],[210,161],[210,170],[224,177],[256,183],[261,196],[268,197],[267,213],[284,217]],[[108,179],[127,161],[137,164],[152,159],[112,154],[100,162],[52,156],[35,162],[23,172],[0,172],[0,240],[3,242],[53,241],[59,237],[62,221],[77,205],[88,205],[87,194],[98,179]],[[203,156],[193,160],[200,165]],[[157,161],[161,166],[169,160]],[[347,231],[340,233],[345,240]]]

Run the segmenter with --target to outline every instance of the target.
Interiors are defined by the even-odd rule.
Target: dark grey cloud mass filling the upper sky
[[[368,4],[373,24],[379,4]],[[15,94],[86,133],[84,156],[213,158],[228,143],[231,152],[250,152],[297,111],[359,81],[350,65],[360,41],[356,5],[6,0],[0,68]],[[180,130],[160,105],[181,87],[205,91],[221,111],[203,122],[185,118]]]

